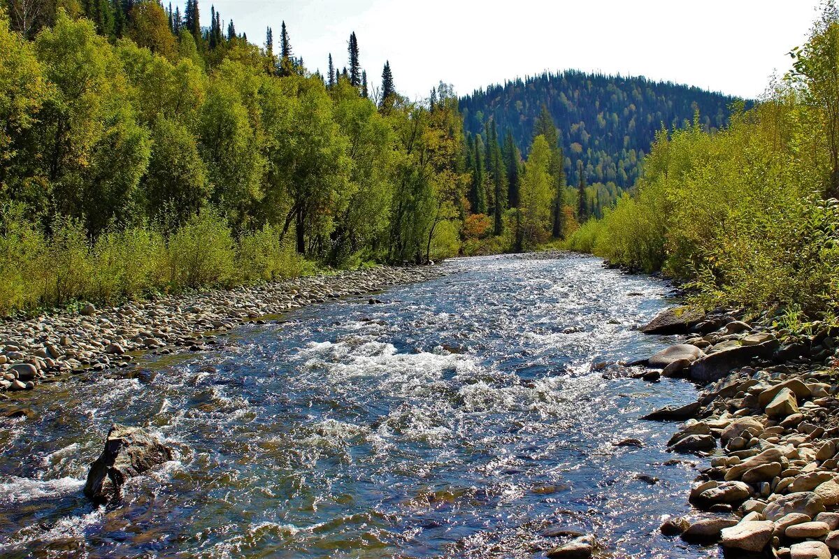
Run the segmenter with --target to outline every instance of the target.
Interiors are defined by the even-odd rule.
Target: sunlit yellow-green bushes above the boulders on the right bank
[[[800,329],[839,317],[839,11],[827,3],[793,69],[708,132],[660,132],[633,197],[571,246],[663,269],[711,307],[778,307]]]

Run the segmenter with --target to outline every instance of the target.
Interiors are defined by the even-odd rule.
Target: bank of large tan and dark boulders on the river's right
[[[836,332],[793,336],[764,316],[666,311],[650,334],[686,334],[651,357],[662,374],[706,383],[699,400],[645,419],[685,421],[670,450],[711,457],[690,488],[696,514],[666,536],[718,542],[726,556],[831,559],[839,552]]]

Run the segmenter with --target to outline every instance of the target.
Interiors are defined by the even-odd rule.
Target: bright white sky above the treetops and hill
[[[180,2],[178,2],[180,3]],[[356,32],[371,85],[390,60],[398,91],[425,96],[440,80],[459,95],[543,70],[646,75],[755,97],[801,44],[818,0],[215,0],[237,32],[263,44],[289,29],[295,56],[326,75],[347,65]],[[201,23],[210,0],[201,0]]]

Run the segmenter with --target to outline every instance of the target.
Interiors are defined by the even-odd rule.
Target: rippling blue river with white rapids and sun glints
[[[614,557],[705,557],[658,532],[699,458],[664,451],[693,401],[613,364],[668,343],[633,329],[665,282],[583,256],[448,261],[438,279],[145,356],[143,380],[40,387],[0,430],[0,556],[540,557],[552,527]],[[32,414],[30,414],[32,415]],[[178,459],[118,506],[81,494],[112,422]],[[616,443],[636,438],[643,447]],[[638,479],[644,474],[658,483]],[[546,531],[548,530],[548,531]]]

